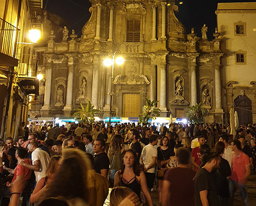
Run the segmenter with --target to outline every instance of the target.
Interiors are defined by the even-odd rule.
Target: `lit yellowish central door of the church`
[[[137,117],[140,109],[140,94],[123,94],[123,117]]]

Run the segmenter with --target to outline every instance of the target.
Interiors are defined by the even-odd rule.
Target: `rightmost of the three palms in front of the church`
[[[202,106],[202,102],[189,107],[186,116],[190,122],[199,122],[199,118],[208,116],[208,111]]]

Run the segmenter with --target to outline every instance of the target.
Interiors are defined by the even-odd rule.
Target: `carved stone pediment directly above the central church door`
[[[131,78],[128,75],[117,75],[114,84],[149,84],[147,77],[142,74],[135,75]]]

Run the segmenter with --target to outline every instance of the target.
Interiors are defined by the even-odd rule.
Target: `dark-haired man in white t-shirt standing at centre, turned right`
[[[157,149],[154,146],[157,145],[157,141],[157,135],[150,135],[149,144],[143,148],[140,158],[140,163],[144,165],[144,172],[149,192],[153,188],[155,181],[155,164],[157,159]]]

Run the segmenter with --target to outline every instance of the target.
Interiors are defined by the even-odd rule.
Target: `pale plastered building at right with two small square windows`
[[[239,124],[256,122],[256,3],[219,3],[217,24],[222,35],[223,109],[238,113]],[[228,117],[228,116],[227,116]]]

